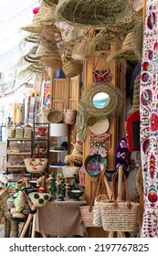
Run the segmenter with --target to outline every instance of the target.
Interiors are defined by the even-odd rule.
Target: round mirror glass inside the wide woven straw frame
[[[111,101],[110,95],[106,92],[98,92],[92,98],[92,104],[97,109],[104,109]]]

